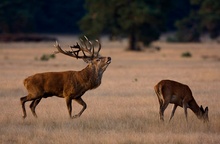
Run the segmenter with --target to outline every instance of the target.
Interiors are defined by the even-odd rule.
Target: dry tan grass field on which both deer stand
[[[60,36],[61,46],[76,37]],[[42,99],[35,119],[26,103],[22,119],[20,97],[27,94],[23,79],[46,71],[81,70],[82,60],[58,54],[41,61],[55,49],[52,42],[0,43],[0,142],[2,144],[217,144],[220,142],[220,44],[155,42],[160,51],[126,51],[127,42],[102,39],[101,54],[111,56],[102,84],[82,98],[88,107],[78,119],[69,119],[64,99]],[[182,57],[190,52],[192,57]],[[199,105],[209,107],[209,124],[188,110],[187,124],[178,107],[171,123],[172,105],[159,121],[154,85],[161,79],[188,84]],[[73,102],[73,113],[82,107]]]

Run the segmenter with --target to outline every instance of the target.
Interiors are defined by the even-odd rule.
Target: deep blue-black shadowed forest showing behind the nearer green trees
[[[78,33],[84,5],[85,0],[1,0],[0,33]],[[189,9],[188,0],[173,0],[167,29],[174,30]]]

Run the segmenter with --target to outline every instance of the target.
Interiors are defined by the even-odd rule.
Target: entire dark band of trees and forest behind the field
[[[219,0],[1,0],[0,34],[108,34],[149,45],[166,31],[170,41],[198,42],[220,34]]]

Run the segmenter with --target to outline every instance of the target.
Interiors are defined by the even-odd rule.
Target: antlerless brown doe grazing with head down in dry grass
[[[209,121],[208,107],[204,110],[202,106],[198,106],[193,98],[192,91],[187,85],[172,80],[162,80],[155,85],[154,90],[160,103],[159,114],[162,121],[164,121],[164,111],[169,103],[174,104],[170,120],[174,116],[177,106],[181,106],[184,109],[186,121],[187,108],[190,108],[204,122]]]

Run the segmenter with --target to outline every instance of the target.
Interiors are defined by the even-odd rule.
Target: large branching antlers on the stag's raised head
[[[95,50],[94,50],[94,45],[92,44],[91,41],[88,40],[88,38],[86,36],[84,36],[85,41],[83,41],[82,39],[80,39],[80,44],[76,43],[76,45],[73,45],[73,46],[70,46],[71,48],[71,51],[65,51],[63,50],[59,43],[56,41],[56,44],[54,45],[58,51],[55,51],[55,54],[56,53],[62,53],[64,55],[67,55],[67,56],[71,56],[71,57],[75,57],[75,58],[82,58],[82,59],[93,59],[95,57],[98,57],[99,56],[99,51],[101,50],[101,44],[99,43],[98,40],[96,40],[96,42],[99,44],[99,48],[98,48],[98,51],[97,53],[95,54]],[[87,47],[87,45],[89,44],[89,48]],[[85,47],[83,47],[83,45]],[[77,50],[75,50],[77,49]],[[79,53],[82,52],[83,55],[79,55]],[[88,53],[88,55],[86,55],[85,53]]]

